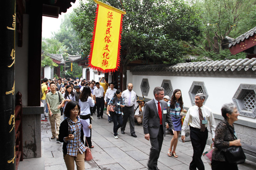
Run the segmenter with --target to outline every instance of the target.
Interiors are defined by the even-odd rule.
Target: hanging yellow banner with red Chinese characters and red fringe
[[[125,12],[94,0],[97,5],[89,66],[101,72],[114,72],[120,64],[122,15]]]

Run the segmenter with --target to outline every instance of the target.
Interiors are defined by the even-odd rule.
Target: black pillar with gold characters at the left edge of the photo
[[[0,169],[15,170],[15,0],[0,5]]]

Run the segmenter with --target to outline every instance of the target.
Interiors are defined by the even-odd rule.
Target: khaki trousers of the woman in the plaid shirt
[[[67,170],[74,170],[74,161],[75,161],[77,170],[84,170],[85,169],[84,157],[85,157],[84,153],[81,154],[80,152],[77,153],[77,157],[72,157],[66,154],[64,156],[64,161],[67,166]]]

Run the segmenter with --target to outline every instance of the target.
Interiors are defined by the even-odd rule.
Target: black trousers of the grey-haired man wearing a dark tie
[[[204,132],[201,132],[201,129],[197,129],[190,126],[190,139],[193,146],[193,159],[189,165],[190,170],[204,170],[204,165],[202,162],[202,153],[206,145],[208,138],[208,130],[205,129]]]

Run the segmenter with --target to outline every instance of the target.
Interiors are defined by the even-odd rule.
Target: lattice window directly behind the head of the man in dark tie
[[[203,104],[205,104],[205,102],[208,98],[208,92],[206,90],[204,82],[194,81],[189,89],[189,98],[190,98],[191,104],[193,106],[195,105],[195,94],[198,94],[198,93],[203,93],[205,95],[205,100],[203,103]]]

